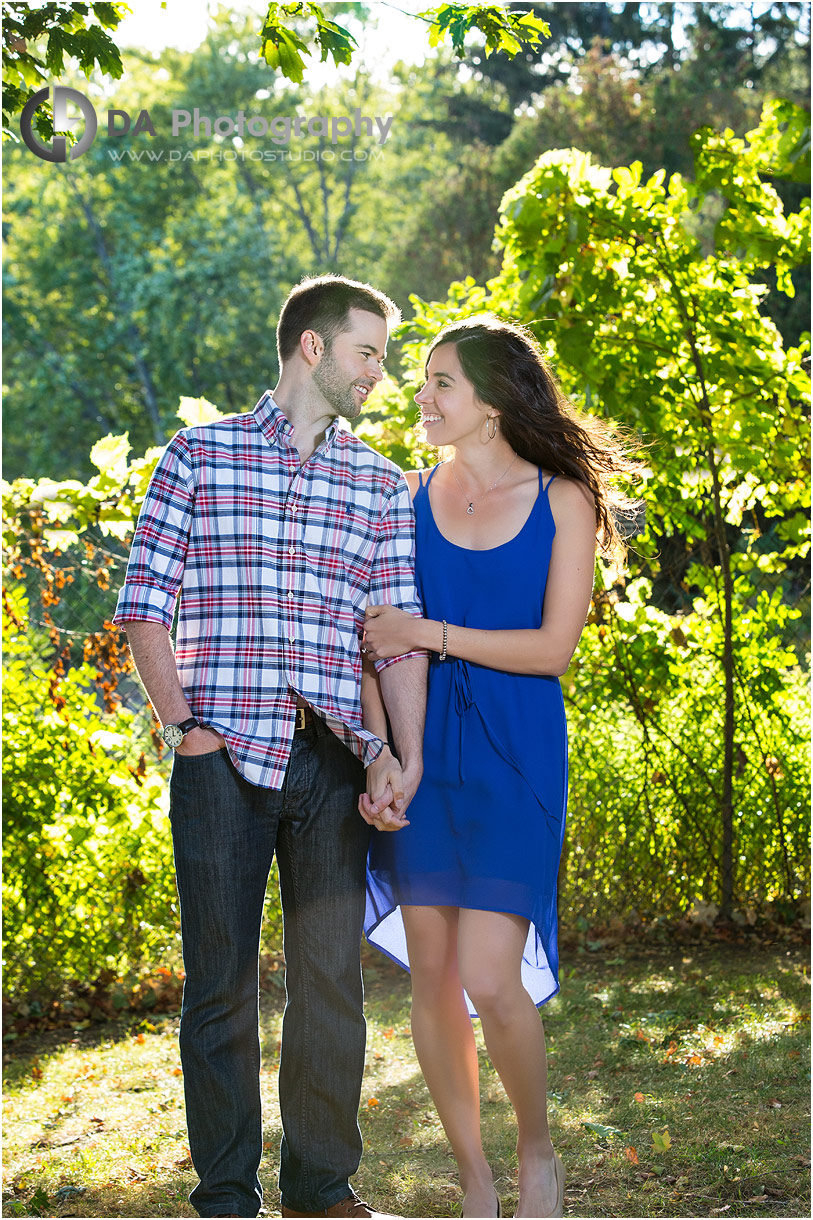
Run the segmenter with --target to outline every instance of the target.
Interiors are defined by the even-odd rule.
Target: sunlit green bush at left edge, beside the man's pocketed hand
[[[99,711],[95,671],[48,670],[28,608],[4,599],[4,987],[50,997],[176,950],[166,783],[132,712]]]

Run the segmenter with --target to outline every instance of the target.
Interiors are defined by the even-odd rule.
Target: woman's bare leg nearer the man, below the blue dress
[[[480,1071],[458,972],[458,908],[403,906],[413,976],[413,1041],[458,1163],[463,1215],[497,1210],[480,1136]]]

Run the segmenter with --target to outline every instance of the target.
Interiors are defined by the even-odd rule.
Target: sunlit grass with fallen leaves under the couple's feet
[[[551,1121],[574,1216],[809,1216],[809,965],[786,944],[564,954],[546,1006]],[[272,976],[272,980],[278,976]],[[354,1182],[405,1216],[460,1211],[409,1037],[409,982],[365,953],[367,1066]],[[269,1214],[277,1214],[282,991],[262,1002]],[[486,1150],[516,1204],[515,1121],[481,1046]],[[13,1043],[4,1215],[194,1215],[177,1016]],[[33,1203],[32,1203],[33,1200]]]

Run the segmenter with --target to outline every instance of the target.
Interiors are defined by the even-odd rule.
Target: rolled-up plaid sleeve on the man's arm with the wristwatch
[[[178,432],[150,479],[138,517],[114,622],[160,622],[172,627],[183,581],[194,505],[189,447]]]

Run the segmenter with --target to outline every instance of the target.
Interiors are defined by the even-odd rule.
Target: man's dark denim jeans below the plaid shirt
[[[361,764],[321,720],[295,733],[280,792],[248,783],[225,749],[176,755],[181,1061],[200,1177],[189,1199],[203,1216],[253,1216],[262,1202],[258,956],[275,852],[287,989],[280,1188],[297,1211],[325,1210],[350,1193],[365,1048],[363,789]]]

